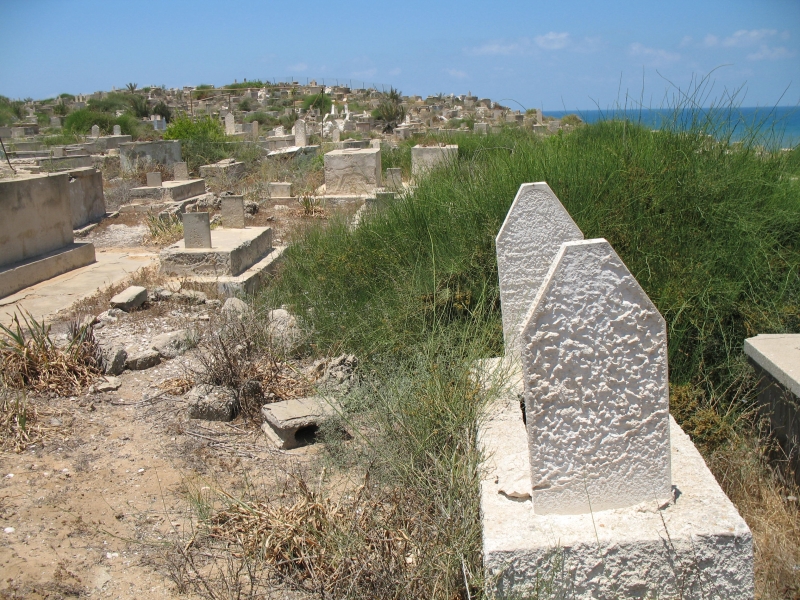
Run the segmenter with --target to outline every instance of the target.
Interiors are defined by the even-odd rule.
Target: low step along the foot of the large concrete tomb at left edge
[[[94,244],[74,242],[0,269],[0,298],[95,262]]]

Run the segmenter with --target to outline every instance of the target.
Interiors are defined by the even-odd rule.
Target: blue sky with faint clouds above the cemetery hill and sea
[[[12,98],[293,76],[576,110],[711,73],[711,99],[796,105],[800,1],[0,0],[0,57]]]

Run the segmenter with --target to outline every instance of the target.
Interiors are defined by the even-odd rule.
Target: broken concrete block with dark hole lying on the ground
[[[311,396],[266,404],[261,414],[267,438],[281,450],[290,450],[312,443],[319,426],[336,410],[330,400]]]

